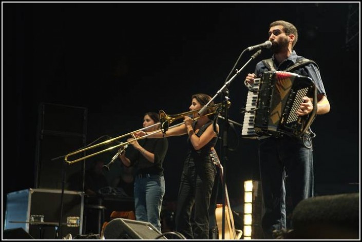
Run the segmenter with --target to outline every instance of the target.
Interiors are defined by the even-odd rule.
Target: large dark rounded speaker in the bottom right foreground
[[[359,193],[304,199],[295,207],[292,223],[296,239],[357,239]]]

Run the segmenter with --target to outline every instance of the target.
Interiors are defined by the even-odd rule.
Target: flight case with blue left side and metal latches
[[[72,236],[82,233],[83,200],[83,192],[64,191],[61,237],[68,233]],[[5,229],[22,228],[35,239],[54,239],[60,211],[61,190],[26,189],[11,192],[7,194]],[[31,215],[43,215],[43,223],[30,223]],[[72,221],[79,218],[79,224],[68,226],[68,218]]]

